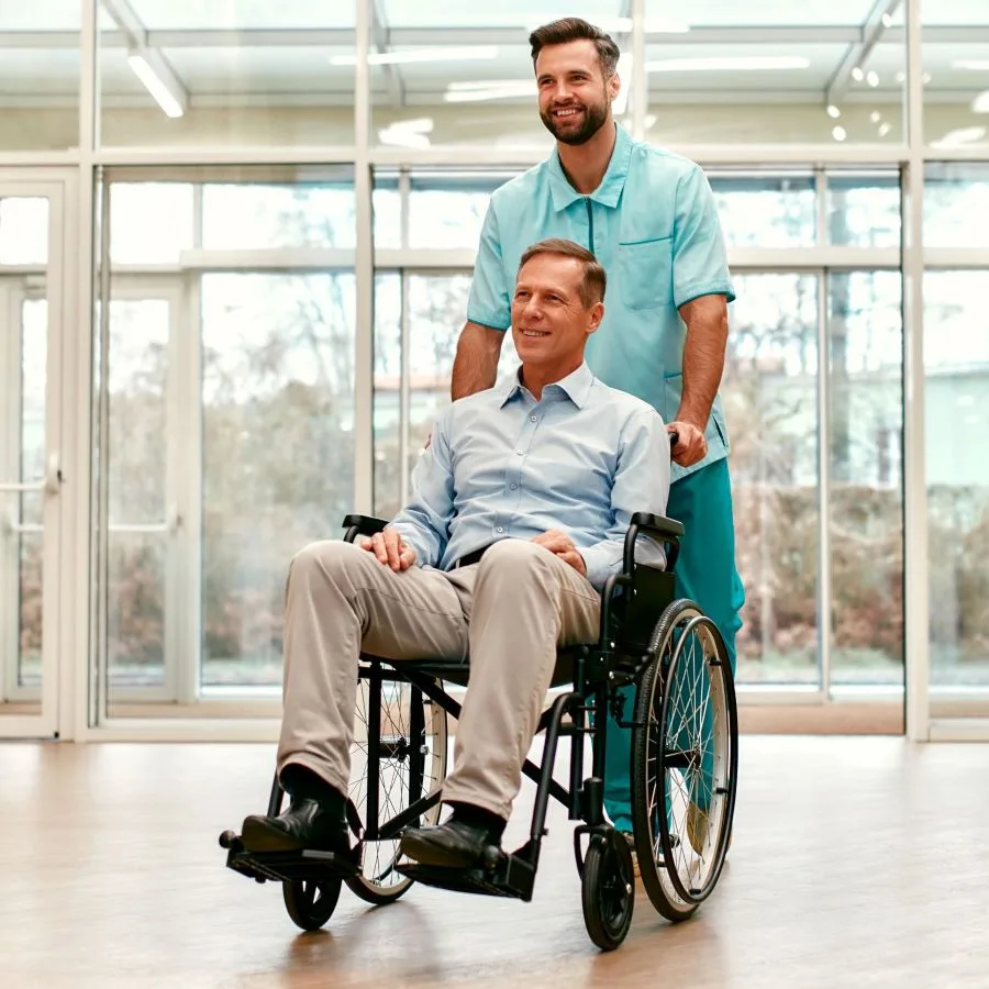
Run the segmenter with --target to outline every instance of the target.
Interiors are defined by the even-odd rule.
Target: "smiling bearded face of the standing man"
[[[547,45],[535,64],[540,119],[563,144],[585,144],[611,120],[621,82],[605,79],[591,41]]]

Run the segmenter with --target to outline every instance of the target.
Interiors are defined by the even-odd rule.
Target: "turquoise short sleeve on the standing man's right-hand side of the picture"
[[[699,166],[677,184],[673,263],[674,302],[678,309],[701,296],[734,300],[714,193]]]

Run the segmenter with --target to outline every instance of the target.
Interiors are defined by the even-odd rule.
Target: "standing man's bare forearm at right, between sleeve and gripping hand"
[[[684,305],[680,313],[687,324],[687,341],[677,420],[703,430],[724,373],[727,303],[723,296],[703,296]]]

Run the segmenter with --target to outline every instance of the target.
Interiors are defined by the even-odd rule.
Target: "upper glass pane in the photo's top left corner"
[[[0,153],[79,145],[79,0],[0,4]],[[8,34],[9,32],[9,34]]]

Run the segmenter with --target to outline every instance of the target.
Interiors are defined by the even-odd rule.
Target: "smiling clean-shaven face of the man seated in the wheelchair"
[[[534,371],[558,381],[584,360],[587,338],[601,325],[604,303],[581,298],[584,263],[559,254],[536,254],[520,269],[512,299],[512,341],[523,377]]]

